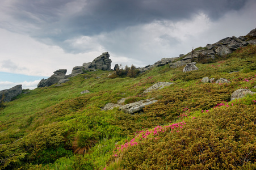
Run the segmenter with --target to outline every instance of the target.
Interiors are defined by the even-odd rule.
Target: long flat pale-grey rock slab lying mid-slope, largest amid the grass
[[[156,102],[157,102],[157,100],[154,100],[154,98],[141,100],[141,101],[137,101],[135,103],[125,104],[125,105],[119,107],[119,110],[122,110],[125,113],[133,114],[133,113],[137,113],[137,112],[142,111],[142,109],[146,105],[150,105],[150,104],[153,104],[153,103],[156,103]]]

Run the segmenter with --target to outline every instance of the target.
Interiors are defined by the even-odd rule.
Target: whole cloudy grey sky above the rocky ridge
[[[104,52],[136,67],[256,28],[255,0],[1,0],[0,90]]]

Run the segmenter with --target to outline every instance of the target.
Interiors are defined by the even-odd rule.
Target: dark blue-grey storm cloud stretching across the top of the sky
[[[16,0],[4,6],[5,13],[13,20],[0,22],[0,27],[8,28],[8,22],[15,23],[11,31],[23,31],[71,52],[72,47],[64,41],[74,37],[98,35],[155,20],[175,22],[198,12],[215,20],[225,12],[239,10],[245,3],[246,0]]]

